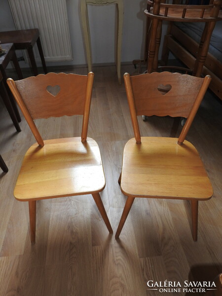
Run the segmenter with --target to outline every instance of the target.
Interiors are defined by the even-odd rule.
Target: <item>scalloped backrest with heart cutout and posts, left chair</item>
[[[48,73],[7,84],[28,122],[37,143],[44,146],[34,119],[83,115],[82,142],[86,141],[94,74]]]

